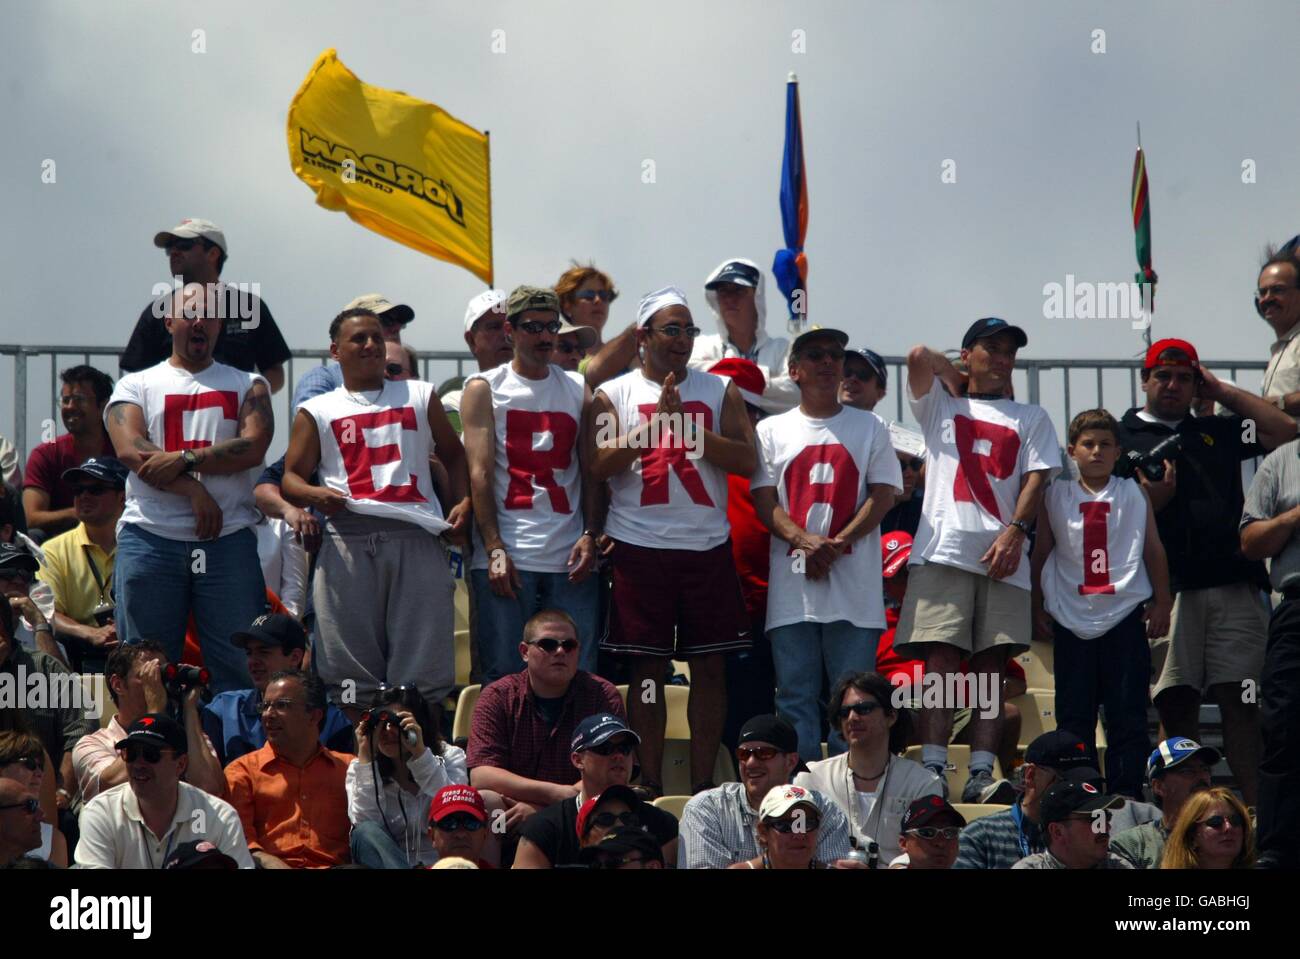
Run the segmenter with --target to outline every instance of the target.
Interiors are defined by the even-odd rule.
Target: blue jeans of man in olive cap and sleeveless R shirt
[[[519,655],[519,642],[524,638],[524,624],[540,609],[563,609],[577,624],[577,668],[595,672],[599,652],[597,625],[601,615],[599,581],[593,573],[575,585],[568,573],[533,573],[519,569],[523,589],[515,590],[515,599],[498,596],[488,585],[486,569],[471,569],[474,612],[477,616],[478,671],[482,685],[524,668]]]

